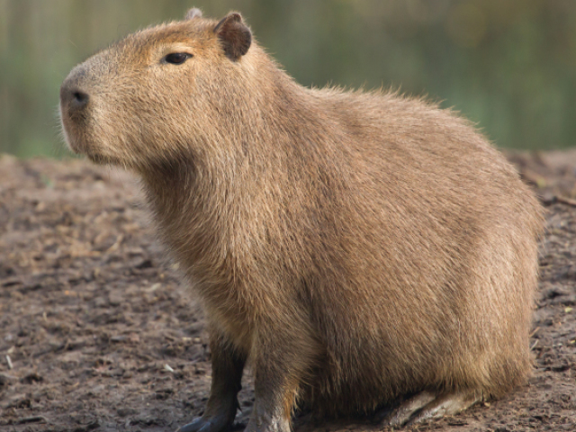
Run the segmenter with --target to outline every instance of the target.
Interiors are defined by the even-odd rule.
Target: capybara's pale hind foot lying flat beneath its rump
[[[399,407],[387,412],[384,425],[405,426],[426,419],[439,419],[466,410],[474,403],[482,401],[482,393],[461,391],[451,393],[420,392]]]

